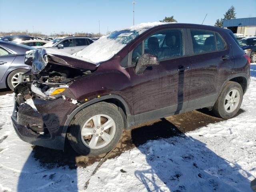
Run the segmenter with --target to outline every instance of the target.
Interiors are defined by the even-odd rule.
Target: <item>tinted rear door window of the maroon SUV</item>
[[[216,51],[214,32],[190,30],[194,54]]]

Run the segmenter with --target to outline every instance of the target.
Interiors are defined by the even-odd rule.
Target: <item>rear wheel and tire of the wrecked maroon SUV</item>
[[[237,82],[228,81],[215,102],[212,111],[220,118],[232,118],[240,109],[243,94],[244,93],[240,84]],[[226,109],[225,106],[227,107]]]

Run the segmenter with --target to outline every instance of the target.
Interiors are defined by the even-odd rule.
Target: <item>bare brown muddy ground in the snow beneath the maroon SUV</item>
[[[244,111],[240,109],[238,114],[242,112]],[[207,109],[201,109],[139,124],[131,130],[123,132],[120,142],[118,142],[116,148],[108,156],[108,159],[115,158],[122,154],[122,152],[138,147],[149,140],[178,136],[220,121],[223,121],[223,119],[212,116],[211,112]],[[74,152],[69,145],[64,152],[40,146],[33,146],[32,148],[34,158],[39,160],[42,166],[50,163],[56,166],[68,165],[71,169],[77,166],[87,167],[94,162],[99,162],[105,156],[105,154],[94,157],[81,156]]]

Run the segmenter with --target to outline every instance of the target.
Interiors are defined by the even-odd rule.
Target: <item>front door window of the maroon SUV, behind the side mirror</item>
[[[144,46],[142,46],[143,43]],[[132,64],[136,64],[143,53],[156,55],[158,60],[183,56],[183,44],[182,30],[162,30],[151,35],[134,48],[132,52]]]

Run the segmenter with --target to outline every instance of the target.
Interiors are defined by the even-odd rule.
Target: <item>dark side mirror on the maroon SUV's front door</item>
[[[157,56],[152,54],[143,54],[135,67],[135,74],[139,75],[146,70],[147,67],[158,66],[159,61]]]

